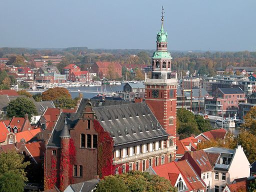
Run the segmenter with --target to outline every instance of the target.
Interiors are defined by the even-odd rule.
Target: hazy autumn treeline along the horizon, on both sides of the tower
[[[117,61],[120,64],[151,64],[151,55],[154,50],[149,49],[89,49],[87,47],[68,48],[0,48],[0,57],[13,57],[23,55],[29,60],[34,55],[64,55],[58,68],[66,64],[75,63],[83,69],[88,68],[95,61]],[[224,70],[226,66],[256,66],[256,52],[237,51],[206,51],[206,52],[182,52],[172,51],[172,69],[177,71],[215,75],[216,70]],[[13,60],[13,59],[12,59]],[[8,63],[11,64],[11,63]]]

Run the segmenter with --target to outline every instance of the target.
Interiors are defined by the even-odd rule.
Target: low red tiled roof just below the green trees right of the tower
[[[199,135],[197,135],[195,138],[204,141],[204,140],[210,140],[210,139],[217,139],[217,138],[225,138],[227,131],[224,128],[209,130],[206,132],[202,132]]]

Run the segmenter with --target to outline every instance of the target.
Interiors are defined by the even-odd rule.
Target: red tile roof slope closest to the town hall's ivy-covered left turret
[[[39,163],[40,156],[42,156],[45,150],[44,142],[38,141],[26,143],[25,147],[27,151],[30,153],[30,155],[33,157],[33,159],[36,161],[36,163]]]

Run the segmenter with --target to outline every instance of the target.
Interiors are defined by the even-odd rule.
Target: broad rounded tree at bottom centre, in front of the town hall
[[[105,176],[94,191],[176,191],[170,181],[148,172],[129,171],[114,176]]]

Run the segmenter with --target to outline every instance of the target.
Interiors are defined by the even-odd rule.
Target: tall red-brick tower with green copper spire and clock
[[[176,145],[177,73],[171,71],[171,55],[167,50],[167,32],[161,28],[156,35],[156,51],[152,56],[151,77],[145,75],[145,102],[169,134],[167,146]]]

